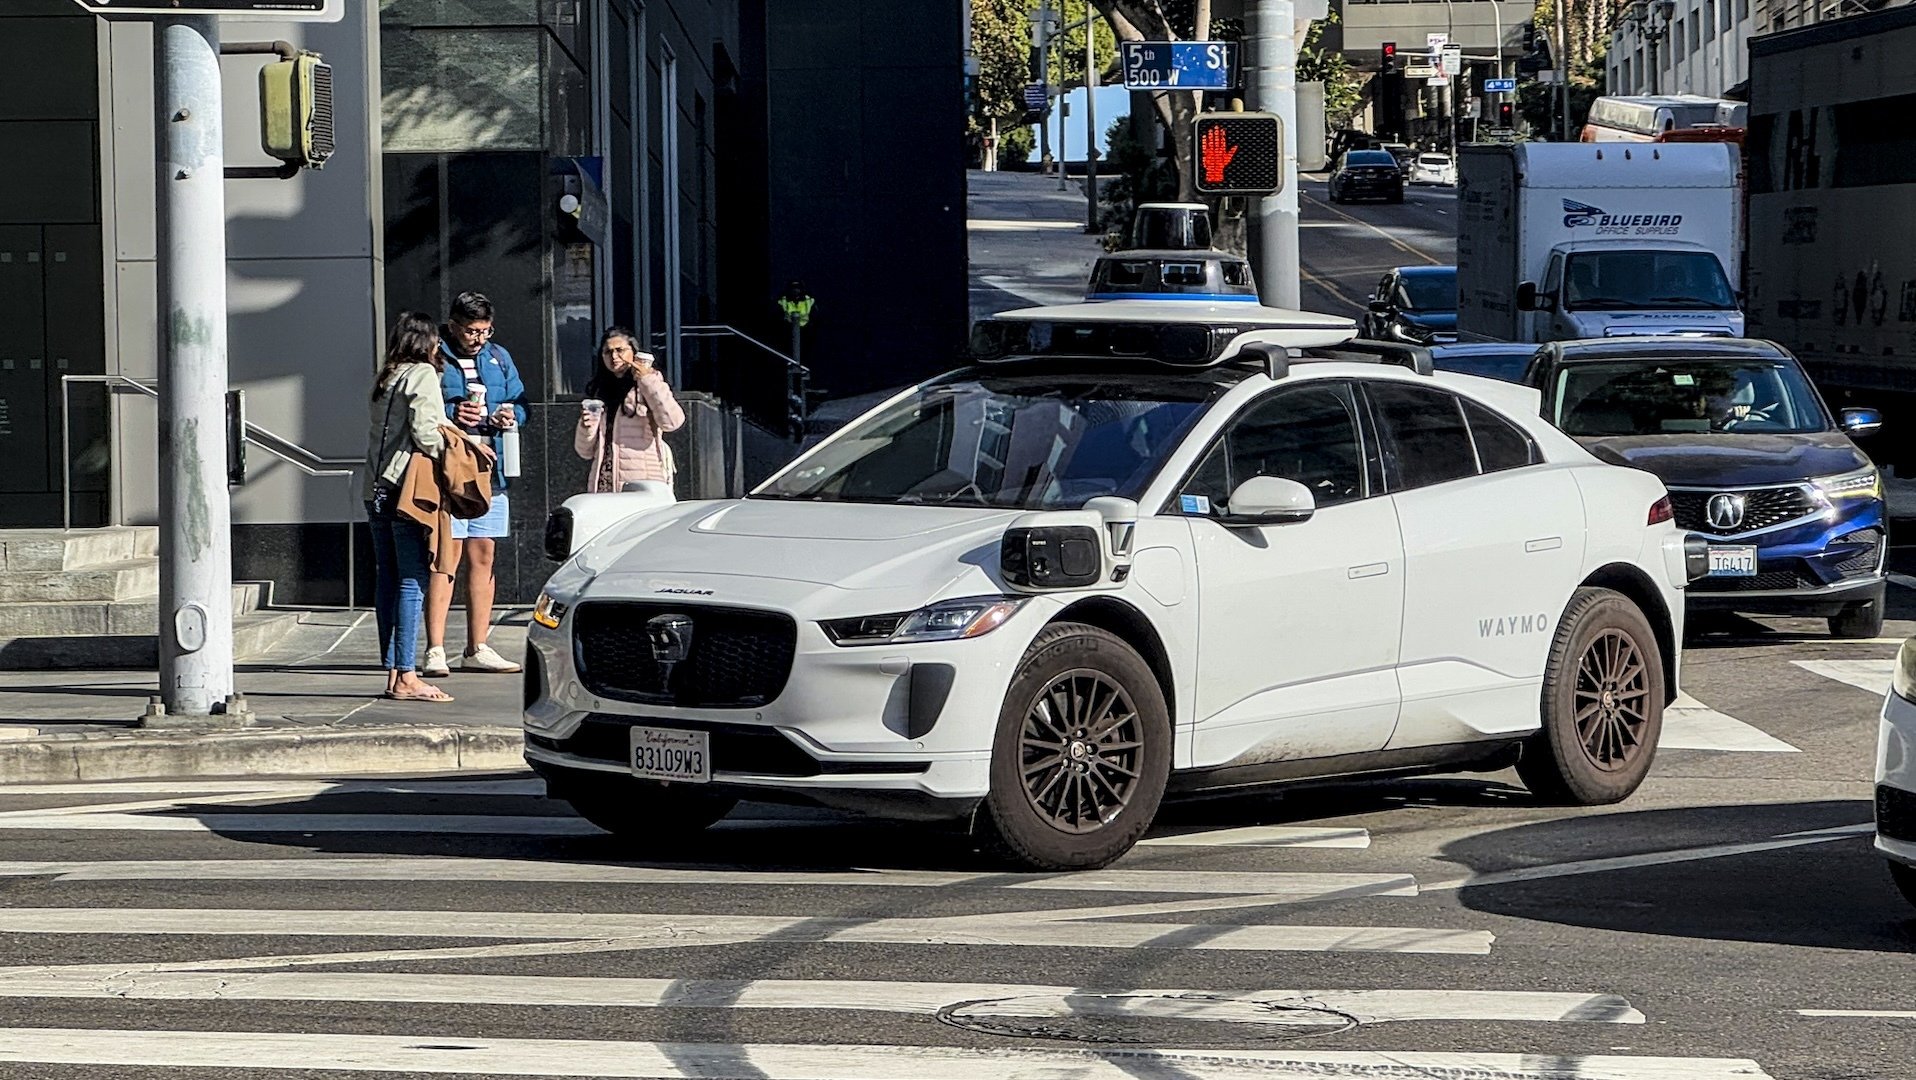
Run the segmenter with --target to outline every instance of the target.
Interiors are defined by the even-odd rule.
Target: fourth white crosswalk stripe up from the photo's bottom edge
[[[674,869],[496,858],[310,858],[310,860],[153,860],[153,862],[0,862],[0,877],[57,881],[529,881],[565,885],[847,885],[912,889],[991,889],[1065,892],[1178,892],[1328,900],[1416,896],[1408,873],[1098,869],[1060,875],[947,873],[933,869],[764,871],[747,867]],[[1276,900],[1274,900],[1276,902]]]

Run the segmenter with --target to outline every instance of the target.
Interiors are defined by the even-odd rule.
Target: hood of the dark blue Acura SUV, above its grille
[[[1811,435],[1636,435],[1577,442],[1673,488],[1742,488],[1853,473],[1870,463],[1839,431]]]

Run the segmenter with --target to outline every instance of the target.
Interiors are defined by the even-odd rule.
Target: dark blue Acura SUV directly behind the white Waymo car
[[[1586,450],[1663,477],[1676,527],[1709,542],[1690,611],[1824,617],[1837,638],[1883,628],[1889,517],[1876,465],[1780,345],[1627,337],[1539,347],[1525,383]]]

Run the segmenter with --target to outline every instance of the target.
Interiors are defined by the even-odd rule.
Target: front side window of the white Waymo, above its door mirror
[[[1228,511],[1230,492],[1251,477],[1297,481],[1320,507],[1364,498],[1364,444],[1351,389],[1289,387],[1249,406],[1192,473],[1184,511],[1205,513],[1205,504]]]

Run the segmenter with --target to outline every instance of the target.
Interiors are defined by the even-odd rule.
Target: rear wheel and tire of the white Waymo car
[[[1517,776],[1544,802],[1621,802],[1650,774],[1663,699],[1663,659],[1644,613],[1619,592],[1579,588],[1550,641],[1542,730],[1525,739]]]

